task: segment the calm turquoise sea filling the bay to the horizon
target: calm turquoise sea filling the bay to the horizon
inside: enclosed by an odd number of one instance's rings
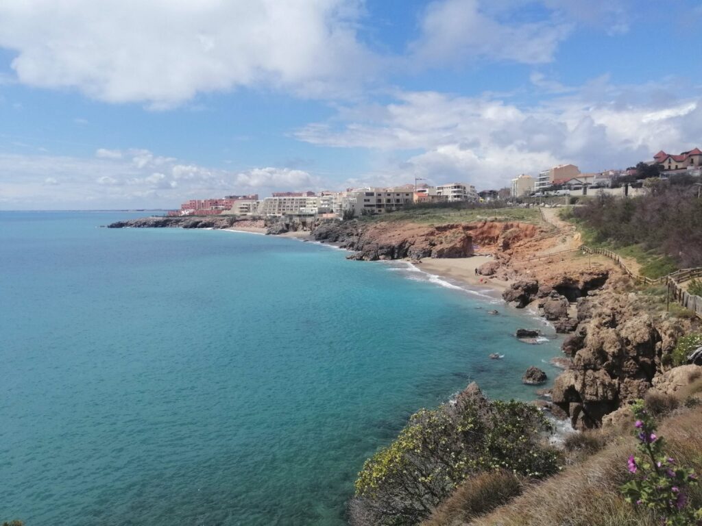
[[[342,525],[409,414],[555,373],[537,321],[402,264],[124,217],[0,213],[0,521]]]

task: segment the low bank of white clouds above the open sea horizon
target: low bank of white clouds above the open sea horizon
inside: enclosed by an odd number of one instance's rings
[[[46,177],[47,172],[53,176]],[[59,182],[57,194],[51,187]],[[318,183],[302,170],[253,168],[232,173],[143,149],[91,158],[0,153],[0,205],[18,210],[177,208],[191,198],[313,189]]]

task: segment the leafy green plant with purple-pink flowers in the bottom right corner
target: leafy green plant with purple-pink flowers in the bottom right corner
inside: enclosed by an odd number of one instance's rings
[[[687,501],[690,487],[699,484],[694,471],[665,454],[665,442],[656,435],[656,422],[642,400],[633,405],[633,412],[639,443],[628,460],[635,478],[621,487],[626,501],[649,508],[665,526],[702,525],[702,508],[694,509]]]

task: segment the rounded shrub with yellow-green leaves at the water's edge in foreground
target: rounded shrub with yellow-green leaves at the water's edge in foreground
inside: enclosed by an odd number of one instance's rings
[[[506,470],[543,478],[559,469],[559,454],[541,444],[552,431],[538,408],[490,401],[479,389],[455,405],[414,414],[398,438],[367,460],[355,483],[351,523],[414,525],[470,476]]]

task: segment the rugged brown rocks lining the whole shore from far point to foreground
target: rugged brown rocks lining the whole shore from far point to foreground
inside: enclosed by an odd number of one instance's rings
[[[108,227],[254,227],[271,235],[304,229],[314,241],[345,248],[352,252],[349,259],[364,261],[420,262],[488,253],[492,259],[476,269],[476,274],[490,282],[510,281],[502,293],[505,302],[517,309],[536,310],[557,332],[566,335],[563,356],[554,358],[563,372],[552,389],[543,393],[550,400],[541,405],[570,419],[578,430],[607,424],[631,400],[641,398],[649,389],[663,389],[661,386],[667,385],[663,378],[670,370],[665,356],[694,324],[647,309],[640,296],[628,292],[628,278],[613,265],[563,264],[564,259],[554,264],[557,257],[529,264],[528,256],[555,238],[534,224],[481,221],[434,226],[351,220],[300,225],[213,216],[145,217]],[[534,384],[541,381],[533,371],[525,380]]]

